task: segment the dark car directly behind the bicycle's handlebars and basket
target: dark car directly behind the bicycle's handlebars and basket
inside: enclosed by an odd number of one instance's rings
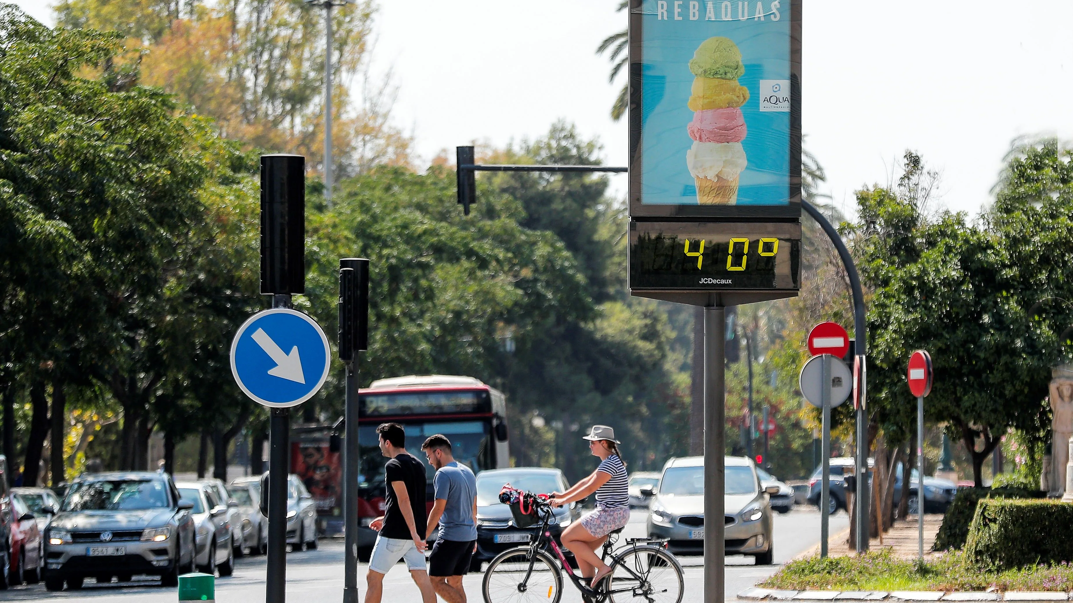
[[[548,494],[565,491],[570,487],[562,471],[546,467],[513,467],[511,469],[488,469],[476,476],[476,553],[471,568],[481,571],[481,563],[490,561],[500,553],[529,542],[540,526],[518,528],[511,515],[511,508],[499,502],[499,490],[504,485],[519,490]],[[554,524],[548,526],[552,536],[559,542],[563,528],[570,526],[582,513],[577,502],[555,510]],[[561,543],[560,543],[561,544]],[[573,561],[570,551],[563,549],[568,560]]]

